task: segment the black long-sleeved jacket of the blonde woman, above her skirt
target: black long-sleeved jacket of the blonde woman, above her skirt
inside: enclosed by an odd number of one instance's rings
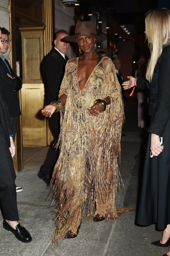
[[[152,82],[145,77],[136,81],[139,89],[150,89],[149,115],[151,124],[148,132],[162,136],[170,118],[170,45],[163,48],[159,57]]]

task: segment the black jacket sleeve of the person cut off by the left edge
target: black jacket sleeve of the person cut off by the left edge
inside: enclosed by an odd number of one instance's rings
[[[10,135],[13,134],[10,120],[10,112],[6,102],[5,74],[0,62],[0,123],[4,131],[8,146],[11,146]]]

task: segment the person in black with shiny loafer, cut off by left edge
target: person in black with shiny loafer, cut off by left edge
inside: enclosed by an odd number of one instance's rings
[[[0,48],[2,33],[0,28]],[[10,120],[10,112],[6,103],[6,86],[4,66],[0,62],[0,197],[4,214],[3,227],[14,233],[21,242],[31,242],[30,233],[19,224],[19,216],[16,201],[16,174],[12,157],[15,155],[13,142],[13,130]]]

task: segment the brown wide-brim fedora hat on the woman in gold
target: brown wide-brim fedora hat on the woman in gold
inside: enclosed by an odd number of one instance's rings
[[[96,42],[105,41],[107,37],[104,35],[97,35],[96,24],[94,22],[77,22],[75,25],[75,34],[64,37],[63,39],[68,42],[76,42],[76,37],[89,35],[96,37]]]

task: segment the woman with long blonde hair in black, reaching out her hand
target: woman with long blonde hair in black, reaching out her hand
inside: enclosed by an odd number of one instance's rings
[[[166,8],[150,11],[145,19],[146,38],[151,57],[146,78],[128,76],[124,89],[137,86],[150,89],[148,128],[143,183],[137,216],[140,225],[157,223],[163,231],[162,240],[152,242],[170,246],[170,11]],[[160,145],[160,137],[164,145]],[[150,152],[154,157],[150,157]],[[170,251],[165,254],[170,256]]]

